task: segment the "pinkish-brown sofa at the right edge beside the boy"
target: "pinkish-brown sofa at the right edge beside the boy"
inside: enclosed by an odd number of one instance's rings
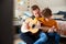
[[[66,21],[56,21],[58,24],[59,34],[62,37],[66,37]]]

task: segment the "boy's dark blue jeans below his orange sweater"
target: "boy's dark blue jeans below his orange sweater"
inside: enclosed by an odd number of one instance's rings
[[[48,44],[53,44],[53,40],[54,40],[54,44],[59,44],[59,34],[57,33],[47,33],[47,36],[48,36]]]

